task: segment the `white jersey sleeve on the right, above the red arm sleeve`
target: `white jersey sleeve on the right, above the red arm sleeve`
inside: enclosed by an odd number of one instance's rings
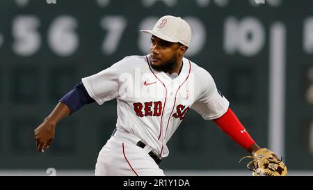
[[[211,74],[204,71],[204,85],[191,109],[197,111],[205,120],[214,120],[223,116],[230,102],[218,91]]]

